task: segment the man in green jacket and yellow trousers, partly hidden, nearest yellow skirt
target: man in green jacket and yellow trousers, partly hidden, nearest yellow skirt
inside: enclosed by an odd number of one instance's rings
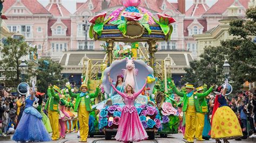
[[[204,87],[205,87],[205,85],[204,85]],[[206,87],[205,88],[204,87],[198,87],[197,92],[202,93],[204,90],[206,91]],[[208,106],[207,106],[207,102],[205,100],[205,97],[200,97],[199,98],[199,107],[200,107],[200,111],[198,111],[196,113],[196,115],[197,115],[197,118],[196,118],[196,126],[197,126],[196,127],[196,138],[199,141],[204,141],[202,135],[203,135],[204,123],[205,123],[205,113],[208,112]]]

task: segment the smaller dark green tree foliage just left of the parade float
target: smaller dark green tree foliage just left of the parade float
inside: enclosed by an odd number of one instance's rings
[[[46,62],[49,62],[49,65]],[[58,62],[42,58],[38,60],[38,63],[40,65],[36,72],[38,91],[46,93],[50,83],[61,88],[65,82],[68,82],[68,79],[62,77],[60,72],[63,67]]]

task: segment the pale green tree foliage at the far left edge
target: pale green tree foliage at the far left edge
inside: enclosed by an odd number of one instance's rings
[[[2,60],[0,61],[0,66],[4,69],[2,74],[6,77],[8,82],[19,83],[21,81],[21,79],[19,79],[21,74],[19,69],[21,58],[28,56],[31,52],[36,50],[36,48],[28,45],[23,36],[3,39],[3,49],[1,51]],[[32,64],[28,64],[28,69],[32,69],[32,66]],[[29,79],[28,75],[26,79]]]

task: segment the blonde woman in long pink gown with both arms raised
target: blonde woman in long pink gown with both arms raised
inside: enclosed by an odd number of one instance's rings
[[[114,87],[113,84],[111,86],[117,93],[123,97],[125,106],[122,109],[122,115],[120,118],[120,123],[117,130],[116,140],[124,141],[124,142],[132,142],[132,141],[140,141],[147,139],[147,133],[139,120],[139,115],[137,113],[137,109],[134,106],[134,101],[137,96],[144,90],[146,87],[146,83],[143,85],[142,89],[138,92],[134,93],[131,85],[126,85],[125,91],[126,93],[122,93]]]

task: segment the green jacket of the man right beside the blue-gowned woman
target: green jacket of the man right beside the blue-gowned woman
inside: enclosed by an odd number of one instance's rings
[[[58,112],[58,109],[59,109],[59,95],[55,94],[55,92],[53,91],[53,88],[48,88],[47,95],[49,96],[49,98],[48,98],[48,100],[45,104],[45,109]],[[50,99],[51,99],[50,109],[48,109]]]

